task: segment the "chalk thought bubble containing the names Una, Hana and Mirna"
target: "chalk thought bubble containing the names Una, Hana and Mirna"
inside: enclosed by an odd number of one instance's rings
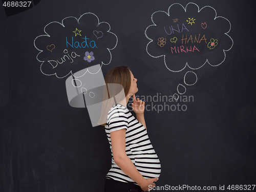
[[[167,12],[154,12],[152,22],[145,30],[150,40],[146,51],[154,58],[163,57],[166,68],[172,72],[186,67],[196,70],[206,63],[219,66],[226,58],[225,52],[233,46],[228,35],[229,20],[217,16],[210,6],[199,9],[194,3],[186,7],[176,3]]]

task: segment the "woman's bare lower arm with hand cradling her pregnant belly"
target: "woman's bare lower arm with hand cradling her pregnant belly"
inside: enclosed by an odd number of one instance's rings
[[[126,129],[110,133],[114,161],[127,176],[134,180],[142,190],[146,191],[148,190],[148,185],[155,186],[153,182],[157,181],[158,178],[145,179],[138,172],[131,159],[125,153],[125,133]]]

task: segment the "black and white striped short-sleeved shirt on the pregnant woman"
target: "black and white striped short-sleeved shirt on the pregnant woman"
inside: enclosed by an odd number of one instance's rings
[[[111,145],[110,132],[126,129],[125,152],[132,160],[139,173],[145,178],[155,178],[160,176],[161,165],[157,154],[148,138],[145,127],[132,115],[123,105],[115,104],[108,113],[107,124],[105,125],[106,136],[108,137],[112,156],[112,167],[106,178],[112,178],[122,182],[133,182],[117,166],[114,161]]]

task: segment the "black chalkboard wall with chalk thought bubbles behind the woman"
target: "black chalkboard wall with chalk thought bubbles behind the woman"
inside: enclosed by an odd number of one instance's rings
[[[79,82],[83,70],[96,65],[101,80],[121,65],[138,79],[136,96],[145,101],[147,132],[162,167],[158,191],[166,185],[252,189],[253,3],[41,0],[20,11],[2,6],[1,191],[103,191],[111,167],[104,127],[92,126],[84,102],[70,105],[89,94]],[[66,89],[71,74],[69,83],[79,88],[74,95]]]

